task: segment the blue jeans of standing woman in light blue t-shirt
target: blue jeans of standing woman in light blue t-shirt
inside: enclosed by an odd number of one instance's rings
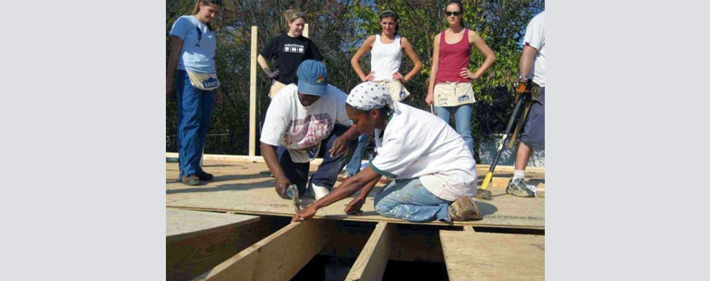
[[[195,175],[202,171],[200,159],[207,138],[209,120],[214,109],[214,91],[203,91],[192,87],[185,70],[178,70],[175,79],[178,97],[178,162],[180,176]]]

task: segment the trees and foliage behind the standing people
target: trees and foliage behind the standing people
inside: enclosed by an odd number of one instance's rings
[[[408,103],[429,111],[424,98],[431,70],[432,38],[447,28],[444,5],[448,1],[391,0],[391,1],[284,1],[284,0],[226,0],[222,12],[213,25],[217,28],[217,73],[222,82],[224,101],[214,109],[212,127],[207,137],[205,153],[247,155],[249,153],[249,55],[251,26],[258,26],[258,50],[271,38],[285,31],[283,11],[300,9],[307,14],[311,40],[324,55],[329,82],[349,92],[360,82],[350,66],[355,54],[368,35],[380,33],[378,11],[393,9],[400,16],[400,35],[408,38],[422,61],[422,71],[406,84],[412,94]],[[476,104],[471,121],[476,162],[482,143],[503,133],[512,111],[513,94],[510,87],[517,80],[521,41],[528,21],[545,9],[544,0],[463,1],[466,27],[481,35],[496,54],[496,63],[474,82]],[[169,52],[168,33],[175,20],[187,15],[194,0],[166,1],[166,64]],[[361,59],[361,66],[369,69],[369,54]],[[481,65],[483,55],[474,48],[471,69]],[[273,70],[273,63],[269,64]],[[404,56],[400,72],[406,74],[413,63]],[[271,82],[258,69],[257,116],[268,107]],[[176,103],[166,103],[166,151],[177,151]],[[260,117],[258,117],[260,119]],[[453,125],[453,123],[452,123]],[[261,126],[259,126],[261,128]],[[257,130],[258,133],[258,130]],[[257,136],[258,140],[258,136]],[[258,145],[257,145],[258,148]]]

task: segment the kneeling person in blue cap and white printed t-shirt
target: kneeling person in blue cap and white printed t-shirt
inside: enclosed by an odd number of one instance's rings
[[[328,84],[323,62],[305,60],[296,75],[297,82],[276,92],[268,106],[261,155],[275,177],[280,197],[292,197],[288,187],[296,184],[299,196],[312,190],[320,199],[350,161],[360,133],[345,113],[345,93]],[[310,160],[323,147],[323,162],[308,187]]]

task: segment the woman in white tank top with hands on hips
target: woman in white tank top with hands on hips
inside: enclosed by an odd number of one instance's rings
[[[403,84],[412,79],[422,69],[417,54],[414,53],[412,44],[405,37],[397,35],[399,29],[398,16],[395,11],[386,9],[380,12],[380,26],[382,33],[370,35],[360,47],[360,50],[353,55],[350,65],[363,82],[374,81],[383,84],[392,95],[395,101],[402,101],[409,96],[409,92]],[[371,51],[371,70],[368,75],[360,67],[360,57]],[[402,54],[405,53],[412,62],[414,68],[403,76],[399,72],[402,64]]]

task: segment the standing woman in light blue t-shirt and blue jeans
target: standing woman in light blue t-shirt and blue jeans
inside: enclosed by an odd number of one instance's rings
[[[214,102],[222,101],[219,79],[214,67],[217,48],[214,28],[210,25],[222,9],[222,0],[197,0],[190,16],[181,16],[170,30],[165,92],[170,96],[173,85],[178,98],[178,153],[180,176],[186,185],[212,180],[200,167],[209,119]],[[175,84],[173,75],[178,70]]]

